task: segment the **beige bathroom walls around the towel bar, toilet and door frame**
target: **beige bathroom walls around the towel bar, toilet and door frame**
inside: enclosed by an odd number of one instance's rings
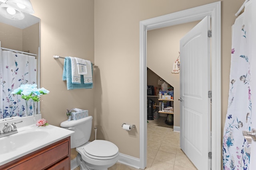
[[[65,109],[88,109],[99,138],[139,158],[139,21],[216,2],[216,0],[31,0],[41,18],[41,113],[50,124],[66,119]],[[222,1],[222,117],[228,100],[231,25],[243,0]],[[62,60],[74,56],[96,63],[93,90],[66,90]],[[95,110],[95,113],[94,113]],[[135,124],[124,131],[122,123]],[[222,119],[222,128],[224,119]]]

